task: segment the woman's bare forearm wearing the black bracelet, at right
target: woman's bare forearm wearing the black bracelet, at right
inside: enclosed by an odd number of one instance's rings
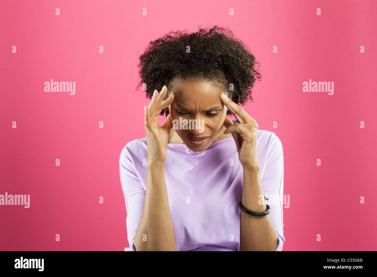
[[[244,167],[242,205],[251,211],[265,211],[267,207],[264,197],[263,205],[259,205],[259,195],[263,195],[259,167]],[[277,233],[270,214],[253,216],[241,211],[240,251],[275,251],[277,243]]]

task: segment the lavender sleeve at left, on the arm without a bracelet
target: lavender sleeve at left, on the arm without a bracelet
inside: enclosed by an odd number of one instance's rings
[[[144,208],[145,190],[135,172],[132,163],[130,144],[127,144],[121,151],[119,158],[120,181],[124,193],[127,211],[127,240],[131,251],[135,251],[133,245],[136,231]]]

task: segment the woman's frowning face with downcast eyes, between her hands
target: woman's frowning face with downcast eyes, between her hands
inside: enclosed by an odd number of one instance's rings
[[[174,101],[169,105],[173,128],[191,151],[204,151],[219,135],[227,116],[220,98],[223,90],[200,78],[173,84]]]

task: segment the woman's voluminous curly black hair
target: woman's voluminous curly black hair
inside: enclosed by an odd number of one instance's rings
[[[182,80],[200,77],[216,81],[237,104],[245,104],[248,98],[253,102],[251,89],[255,77],[258,81],[262,77],[254,67],[259,64],[254,55],[227,28],[216,25],[208,31],[205,28],[198,29],[198,32],[192,34],[170,31],[150,41],[139,57],[141,81],[137,89],[143,87],[146,98],[151,99],[154,90],[160,91],[164,85],[169,93],[175,77]],[[169,107],[163,109],[160,115],[164,113],[166,116],[169,114]],[[231,114],[228,109],[227,115]]]

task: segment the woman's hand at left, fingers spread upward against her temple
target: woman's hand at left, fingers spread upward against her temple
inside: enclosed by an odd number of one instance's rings
[[[174,95],[165,99],[167,87],[164,86],[161,92],[157,90],[153,93],[148,107],[144,106],[144,125],[147,135],[147,162],[164,163],[166,160],[166,148],[169,142],[170,129],[172,128],[172,119],[169,115],[166,117],[164,125],[158,125],[158,116],[162,109],[168,107],[174,101]]]

